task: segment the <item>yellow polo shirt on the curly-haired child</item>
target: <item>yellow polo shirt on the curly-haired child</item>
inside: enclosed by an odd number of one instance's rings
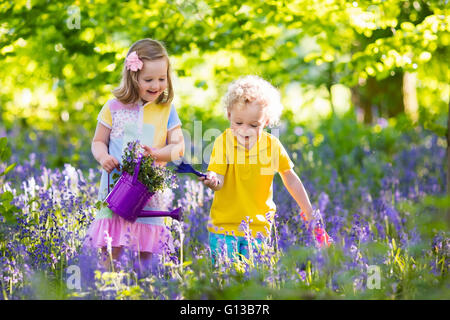
[[[244,236],[241,222],[247,217],[251,235],[268,236],[276,211],[273,202],[273,177],[292,169],[294,164],[281,142],[263,132],[246,149],[237,142],[231,129],[214,141],[208,171],[225,177],[222,189],[214,193],[208,230],[213,233]]]

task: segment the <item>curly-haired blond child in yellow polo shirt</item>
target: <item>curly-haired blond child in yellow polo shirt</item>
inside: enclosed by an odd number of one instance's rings
[[[247,76],[229,86],[224,100],[230,128],[214,142],[206,179],[199,178],[215,191],[208,227],[213,261],[222,251],[230,258],[235,253],[248,258],[246,232],[255,238],[258,233],[269,236],[276,210],[272,200],[276,172],[303,210],[302,218],[318,244],[328,245],[331,239],[320,225],[320,213],[312,209],[289,155],[275,136],[263,130],[280,118],[278,91],[257,76]],[[243,221],[250,222],[247,230]]]

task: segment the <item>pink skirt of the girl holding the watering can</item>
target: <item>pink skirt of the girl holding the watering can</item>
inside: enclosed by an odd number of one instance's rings
[[[126,247],[139,252],[173,252],[171,232],[161,225],[129,222],[109,209],[105,214],[98,215],[87,231],[85,246],[102,248]],[[101,211],[104,211],[101,210]]]

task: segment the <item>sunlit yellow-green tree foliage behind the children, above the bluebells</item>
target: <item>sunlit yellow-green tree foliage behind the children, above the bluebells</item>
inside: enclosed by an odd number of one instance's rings
[[[213,92],[206,107],[182,96],[187,122],[225,125],[214,110],[226,84],[245,73],[281,89],[324,87],[330,102],[332,87],[343,84],[370,118],[396,116],[404,75],[413,73],[421,119],[443,135],[449,16],[446,0],[7,1],[0,5],[0,119],[6,130],[56,136],[55,164],[76,161],[64,150],[86,145],[129,46],[150,37],[167,46],[181,89],[190,81]]]

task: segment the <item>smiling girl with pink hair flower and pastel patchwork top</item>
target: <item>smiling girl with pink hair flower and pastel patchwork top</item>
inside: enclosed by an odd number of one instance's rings
[[[139,140],[145,154],[152,155],[161,165],[183,155],[181,122],[171,104],[174,93],[170,73],[169,57],[160,42],[143,39],[129,49],[122,81],[113,92],[115,98],[106,102],[98,115],[91,146],[103,168],[99,200],[106,198],[108,180],[112,183],[112,174],[120,170],[122,150],[129,141]],[[155,194],[145,209],[168,210],[164,197]],[[152,254],[160,253],[164,247],[172,248],[164,218],[138,218],[130,223],[106,207],[97,212],[87,240],[91,246],[102,249],[105,266],[109,265],[109,253],[117,261],[123,247],[139,252],[144,265],[150,262]]]

